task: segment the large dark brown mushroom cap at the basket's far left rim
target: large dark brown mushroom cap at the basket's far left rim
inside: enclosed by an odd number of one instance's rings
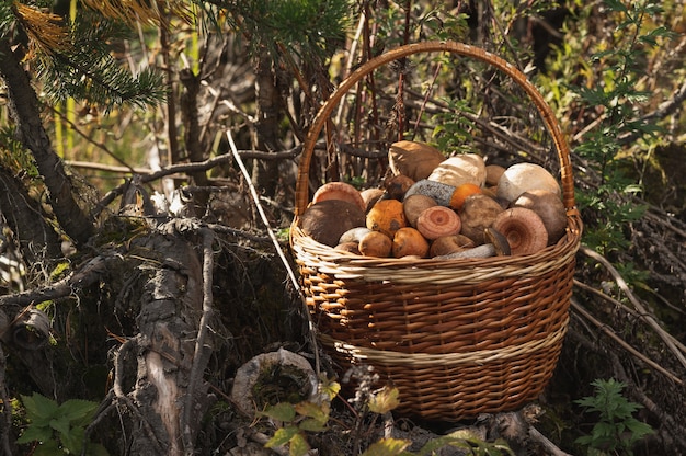
[[[334,247],[345,231],[365,226],[365,214],[357,205],[347,201],[324,200],[305,209],[299,225],[307,236]]]

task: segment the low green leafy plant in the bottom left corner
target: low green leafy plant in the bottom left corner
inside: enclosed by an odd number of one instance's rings
[[[38,392],[33,396],[22,395],[21,398],[28,426],[16,443],[35,442],[34,456],[82,453],[85,426],[93,420],[96,402],[69,399],[58,404]],[[100,444],[89,444],[87,454],[101,456],[107,455],[107,451]]]

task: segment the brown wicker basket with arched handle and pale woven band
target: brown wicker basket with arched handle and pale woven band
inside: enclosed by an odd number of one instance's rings
[[[416,53],[485,62],[519,86],[538,110],[559,159],[568,230],[523,256],[481,260],[377,259],[346,254],[298,226],[322,128],[342,98],[375,69]],[[370,364],[399,388],[399,412],[458,421],[537,398],[556,367],[567,324],[582,223],[572,167],[552,111],[525,76],[483,49],[426,42],[386,52],[351,73],[321,107],[299,163],[290,243],[320,343],[340,365]]]

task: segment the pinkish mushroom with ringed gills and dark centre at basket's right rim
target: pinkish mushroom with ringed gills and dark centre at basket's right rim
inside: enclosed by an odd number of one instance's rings
[[[492,227],[507,239],[513,255],[536,253],[548,246],[544,220],[526,207],[504,210],[495,217]]]

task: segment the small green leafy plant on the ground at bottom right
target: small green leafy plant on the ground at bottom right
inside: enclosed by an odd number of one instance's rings
[[[576,443],[587,445],[588,454],[631,455],[633,444],[653,432],[649,424],[633,418],[633,412],[641,406],[630,402],[621,395],[626,387],[621,381],[613,378],[596,379],[592,385],[595,387],[595,396],[587,396],[575,402],[586,412],[598,413],[599,418],[591,435],[576,438]]]

